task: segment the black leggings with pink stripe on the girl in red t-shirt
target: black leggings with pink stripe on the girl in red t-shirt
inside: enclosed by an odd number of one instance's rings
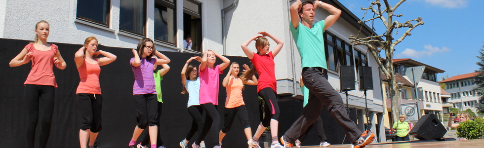
[[[271,125],[271,119],[279,121],[279,106],[277,104],[276,92],[272,88],[266,87],[259,91],[259,96],[264,99],[264,119],[262,126]]]

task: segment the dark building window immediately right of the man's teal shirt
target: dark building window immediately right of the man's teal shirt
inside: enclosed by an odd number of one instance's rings
[[[328,69],[338,72],[340,65],[353,65],[353,47],[343,39],[335,37],[331,33],[324,33],[326,37]]]

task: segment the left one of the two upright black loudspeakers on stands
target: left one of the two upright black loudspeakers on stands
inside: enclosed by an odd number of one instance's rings
[[[355,90],[355,67],[339,66],[339,86],[343,91]]]

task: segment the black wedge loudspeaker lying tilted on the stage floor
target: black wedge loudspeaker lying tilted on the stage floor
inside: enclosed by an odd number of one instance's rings
[[[447,130],[437,116],[433,113],[422,116],[410,131],[410,135],[419,139],[440,139]]]

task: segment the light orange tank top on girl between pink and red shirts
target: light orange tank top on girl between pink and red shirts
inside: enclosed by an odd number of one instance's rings
[[[225,100],[225,108],[237,108],[245,105],[242,98],[242,79],[230,76],[229,83],[225,87],[227,90],[227,99]]]

